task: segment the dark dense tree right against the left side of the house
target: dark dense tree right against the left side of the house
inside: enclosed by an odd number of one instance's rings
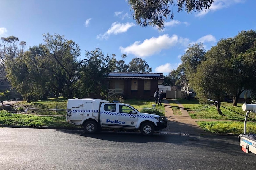
[[[76,97],[87,98],[90,94],[106,97],[109,85],[106,75],[113,71],[115,61],[109,54],[105,56],[99,48],[86,51],[85,56],[88,62],[81,68],[83,72],[76,83]]]

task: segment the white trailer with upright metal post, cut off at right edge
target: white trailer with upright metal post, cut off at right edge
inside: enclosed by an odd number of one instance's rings
[[[242,109],[247,112],[244,119],[244,134],[239,135],[240,146],[245,153],[252,152],[256,154],[256,134],[246,133],[248,115],[249,113],[256,113],[256,104],[243,104]]]

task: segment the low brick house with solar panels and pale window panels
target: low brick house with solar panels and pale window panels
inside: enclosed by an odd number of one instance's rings
[[[153,99],[158,85],[163,83],[163,73],[109,73],[108,96],[121,94],[124,98]]]

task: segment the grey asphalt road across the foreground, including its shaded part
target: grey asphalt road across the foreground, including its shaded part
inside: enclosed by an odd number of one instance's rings
[[[0,128],[0,169],[255,169],[238,137]]]

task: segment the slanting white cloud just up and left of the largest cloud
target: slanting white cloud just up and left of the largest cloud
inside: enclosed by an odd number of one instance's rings
[[[97,35],[97,39],[108,39],[108,37],[111,34],[117,35],[120,33],[124,33],[126,32],[129,28],[135,26],[134,23],[132,22],[127,22],[127,23],[118,23],[118,22],[114,22],[111,25],[111,28],[109,28],[103,35],[99,34]]]

